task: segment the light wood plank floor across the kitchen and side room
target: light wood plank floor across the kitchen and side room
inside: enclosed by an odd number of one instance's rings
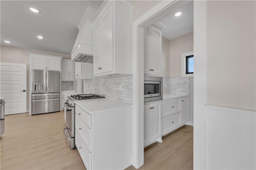
[[[64,112],[5,116],[1,138],[1,170],[84,170],[77,150],[63,134]],[[192,169],[193,127],[184,126],[145,148],[140,169]],[[127,169],[135,169],[133,166]]]

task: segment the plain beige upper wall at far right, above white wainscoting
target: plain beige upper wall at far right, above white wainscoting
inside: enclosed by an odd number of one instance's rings
[[[209,1],[207,16],[207,103],[256,111],[255,1]]]

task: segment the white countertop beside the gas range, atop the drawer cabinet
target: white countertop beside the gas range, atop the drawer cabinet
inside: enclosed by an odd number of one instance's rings
[[[101,111],[108,111],[120,107],[129,107],[132,106],[128,103],[123,103],[120,101],[115,101],[112,99],[90,99],[90,100],[80,100],[75,101],[75,104],[90,113],[91,115],[94,113],[99,113]]]

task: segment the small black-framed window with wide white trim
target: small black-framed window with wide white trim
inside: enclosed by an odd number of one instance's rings
[[[194,77],[194,52],[181,54],[181,77]]]

